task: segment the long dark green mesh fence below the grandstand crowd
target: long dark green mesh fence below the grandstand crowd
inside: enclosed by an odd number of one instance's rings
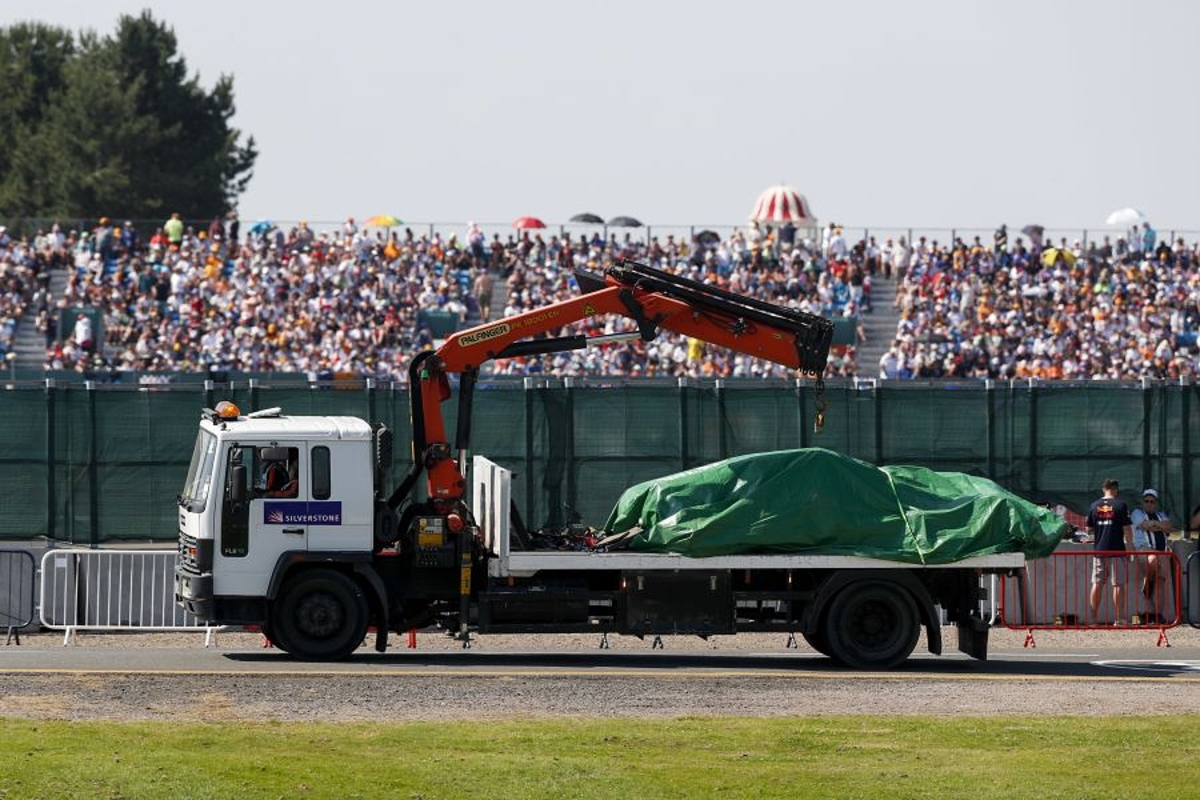
[[[640,481],[730,456],[822,446],[877,464],[985,475],[1022,497],[1076,512],[1105,477],[1127,499],[1153,486],[1182,521],[1193,485],[1200,402],[1190,384],[827,381],[814,431],[811,381],[485,380],[473,452],[511,469],[529,527],[575,510],[600,524]],[[199,410],[353,415],[396,433],[396,482],[408,463],[408,395],[372,381],[168,385],[10,383],[0,392],[0,540],[77,545],[169,541]],[[455,403],[445,404],[455,431]]]

